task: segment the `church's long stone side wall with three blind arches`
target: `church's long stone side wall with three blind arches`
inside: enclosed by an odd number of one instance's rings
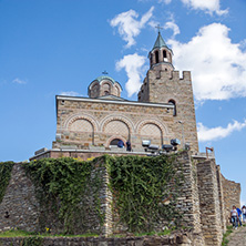
[[[170,144],[182,139],[182,129],[173,116],[173,105],[146,104],[99,99],[57,96],[57,142],[53,147],[75,145],[109,147],[114,139],[126,142],[134,151],[144,151],[143,140]]]

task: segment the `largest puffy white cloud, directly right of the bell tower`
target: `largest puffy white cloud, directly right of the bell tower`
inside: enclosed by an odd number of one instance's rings
[[[167,41],[174,66],[192,70],[196,101],[246,96],[246,51],[228,38],[229,29],[212,23],[199,29],[187,43]]]

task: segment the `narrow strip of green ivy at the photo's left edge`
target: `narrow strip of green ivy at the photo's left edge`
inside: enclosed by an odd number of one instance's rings
[[[11,171],[13,167],[13,162],[0,162],[0,203],[3,199],[6,188],[9,184],[11,177]]]

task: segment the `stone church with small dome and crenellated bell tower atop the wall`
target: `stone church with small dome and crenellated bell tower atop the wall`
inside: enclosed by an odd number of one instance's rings
[[[52,157],[55,151],[117,151],[120,140],[130,141],[132,151],[144,152],[142,141],[170,144],[172,139],[198,152],[191,72],[173,66],[173,51],[161,33],[148,53],[150,69],[137,101],[121,98],[121,84],[109,75],[93,80],[89,98],[57,95],[57,136],[52,150],[35,152]],[[121,150],[124,151],[124,150]]]

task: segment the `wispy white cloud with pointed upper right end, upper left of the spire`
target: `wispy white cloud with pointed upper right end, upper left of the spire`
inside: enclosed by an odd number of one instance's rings
[[[154,11],[154,7],[152,7],[141,20],[136,20],[139,18],[139,13],[134,10],[129,10],[126,12],[122,12],[114,17],[110,24],[111,27],[117,27],[117,31],[122,39],[126,41],[126,48],[132,47],[135,44],[135,37],[137,37],[141,32],[141,29],[145,27],[147,21],[151,19]]]

